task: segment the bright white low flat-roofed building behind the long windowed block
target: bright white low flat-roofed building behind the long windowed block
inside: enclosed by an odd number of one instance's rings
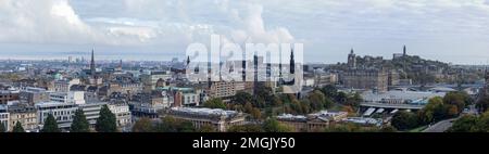
[[[60,103],[85,104],[84,91],[53,92],[49,93],[49,100]]]

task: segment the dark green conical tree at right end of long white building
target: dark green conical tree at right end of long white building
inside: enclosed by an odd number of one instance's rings
[[[117,121],[115,115],[109,110],[108,105],[103,105],[100,110],[99,118],[96,123],[96,130],[98,132],[116,132]]]

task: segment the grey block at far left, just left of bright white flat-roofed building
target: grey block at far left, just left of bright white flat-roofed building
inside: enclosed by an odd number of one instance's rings
[[[46,89],[42,88],[27,87],[21,90],[18,99],[22,103],[33,105],[39,102],[49,101],[49,93],[46,91]]]

